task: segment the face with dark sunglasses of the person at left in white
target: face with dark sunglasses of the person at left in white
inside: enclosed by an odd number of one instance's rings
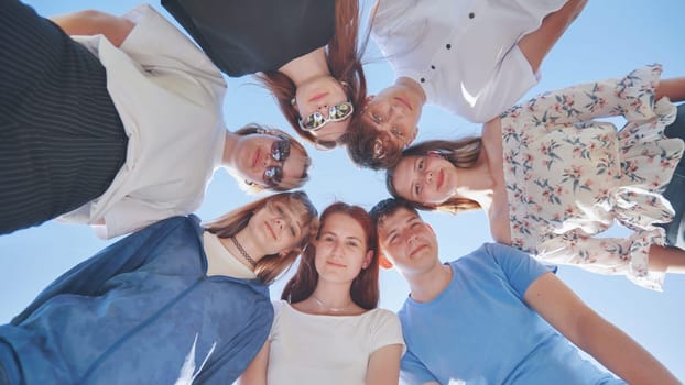
[[[287,139],[273,134],[240,136],[235,173],[263,188],[290,189],[301,184],[306,154]]]

